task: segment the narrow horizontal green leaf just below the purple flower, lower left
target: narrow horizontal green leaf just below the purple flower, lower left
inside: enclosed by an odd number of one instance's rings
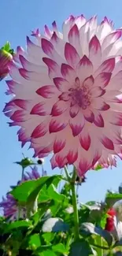
[[[32,228],[31,221],[13,221],[6,226],[5,232],[11,232],[15,228]]]

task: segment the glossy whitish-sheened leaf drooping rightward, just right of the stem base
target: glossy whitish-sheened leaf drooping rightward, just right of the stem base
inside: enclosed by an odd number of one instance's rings
[[[109,232],[107,232],[102,228],[95,227],[94,224],[90,222],[86,222],[86,223],[84,222],[81,225],[81,229],[82,228],[86,232],[90,232],[91,234],[102,236],[109,246],[111,246],[111,244],[113,243],[113,236],[111,236]]]

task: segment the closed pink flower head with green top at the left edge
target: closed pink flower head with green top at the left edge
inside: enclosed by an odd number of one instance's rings
[[[9,64],[13,60],[13,50],[10,49],[10,44],[6,43],[0,49],[0,81],[9,74]]]

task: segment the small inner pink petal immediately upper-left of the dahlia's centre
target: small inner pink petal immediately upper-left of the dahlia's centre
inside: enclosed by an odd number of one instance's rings
[[[54,84],[57,87],[59,91],[68,91],[71,87],[71,84],[65,80],[65,78],[62,77],[55,77],[54,78]]]

